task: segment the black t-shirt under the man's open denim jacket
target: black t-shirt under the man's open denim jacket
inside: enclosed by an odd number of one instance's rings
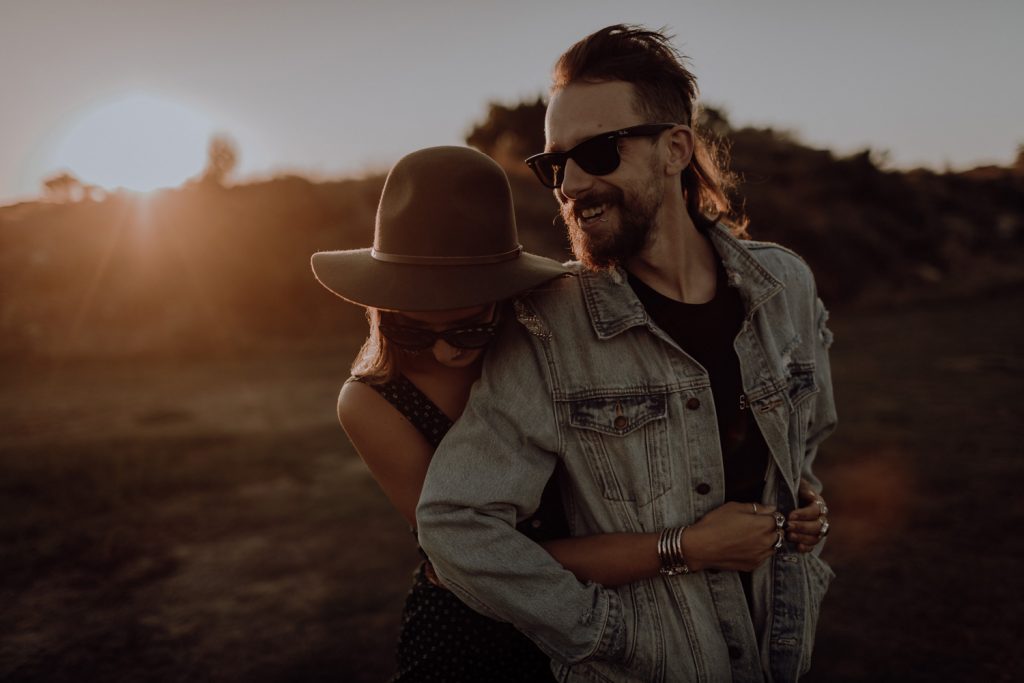
[[[739,359],[733,348],[744,315],[739,292],[729,287],[721,263],[715,298],[707,303],[670,299],[633,273],[630,286],[651,319],[708,371],[722,443],[725,500],[760,502],[768,467],[768,444],[751,410],[740,403],[743,388]]]

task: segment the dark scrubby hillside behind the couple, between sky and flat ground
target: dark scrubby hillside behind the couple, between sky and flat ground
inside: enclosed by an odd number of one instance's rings
[[[839,158],[715,123],[752,236],[807,258],[830,305],[1024,282],[1020,169],[899,172],[866,151]],[[515,144],[500,141],[484,151],[508,162]],[[567,258],[553,198],[523,167],[509,170],[523,244]],[[316,286],[309,255],[369,246],[382,183],[286,176],[0,208],[0,354],[238,352],[330,339],[361,311]]]

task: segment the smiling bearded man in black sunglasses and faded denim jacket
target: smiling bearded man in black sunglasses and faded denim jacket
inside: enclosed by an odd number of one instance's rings
[[[516,303],[417,512],[445,586],[559,680],[795,680],[831,578],[811,470],[836,423],[826,313],[799,257],[725,222],[695,94],[659,33],[561,56],[527,163],[579,276]],[[581,583],[516,532],[556,466],[572,535],[646,543],[608,555],[645,578]]]

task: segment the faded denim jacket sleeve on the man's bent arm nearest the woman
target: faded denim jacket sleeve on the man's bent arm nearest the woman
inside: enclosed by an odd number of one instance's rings
[[[546,365],[509,321],[431,461],[417,509],[420,544],[446,588],[511,622],[556,660],[617,660],[626,649],[617,595],[581,583],[515,528],[539,506],[559,451]]]

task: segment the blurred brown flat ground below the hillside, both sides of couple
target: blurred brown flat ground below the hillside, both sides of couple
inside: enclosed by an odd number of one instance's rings
[[[805,680],[1024,677],[1022,304],[834,315]],[[416,553],[335,421],[340,346],[0,369],[0,679],[386,679]]]

